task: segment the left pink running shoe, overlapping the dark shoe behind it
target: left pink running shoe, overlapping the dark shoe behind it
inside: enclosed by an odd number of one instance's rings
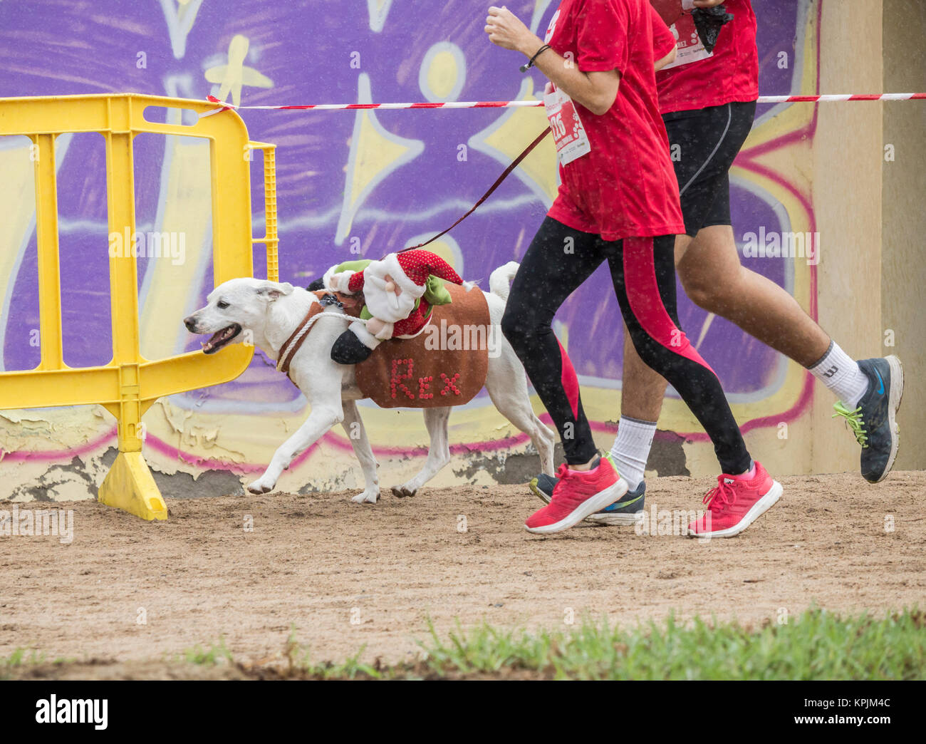
[[[627,493],[627,481],[619,476],[607,458],[600,458],[597,466],[589,471],[570,470],[563,463],[557,478],[559,482],[553,489],[550,503],[534,511],[524,523],[528,532],[536,535],[562,532]]]

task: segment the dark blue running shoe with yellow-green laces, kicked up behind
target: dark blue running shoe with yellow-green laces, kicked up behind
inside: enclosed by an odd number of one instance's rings
[[[861,472],[869,483],[879,483],[894,467],[900,432],[897,409],[904,394],[904,368],[894,355],[861,359],[858,367],[869,378],[869,389],[855,410],[842,400],[833,405],[832,418],[842,416],[862,446]]]

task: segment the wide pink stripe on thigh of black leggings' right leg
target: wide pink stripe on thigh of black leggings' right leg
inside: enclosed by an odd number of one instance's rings
[[[624,238],[624,287],[633,315],[647,335],[669,351],[714,372],[701,359],[688,336],[672,322],[666,306],[662,304],[656,282],[653,238]]]

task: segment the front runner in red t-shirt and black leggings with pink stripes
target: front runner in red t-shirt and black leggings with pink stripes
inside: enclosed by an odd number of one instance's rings
[[[502,319],[566,451],[550,503],[527,521],[531,532],[567,529],[627,493],[597,456],[578,378],[552,330],[560,305],[605,260],[640,357],[714,442],[722,498],[735,503],[730,529],[745,529],[782,492],[750,458],[717,375],[678,328],[673,251],[683,224],[657,106],[654,50],[664,42],[654,19],[647,0],[563,0],[545,44],[506,8],[491,7],[486,19],[493,44],[521,52],[550,80],[544,103],[562,168]]]

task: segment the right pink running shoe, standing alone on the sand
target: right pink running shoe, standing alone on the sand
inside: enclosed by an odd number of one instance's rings
[[[773,481],[758,462],[753,477],[720,475],[717,484],[704,498],[707,513],[688,525],[689,536],[739,535],[782,496],[782,484]]]

